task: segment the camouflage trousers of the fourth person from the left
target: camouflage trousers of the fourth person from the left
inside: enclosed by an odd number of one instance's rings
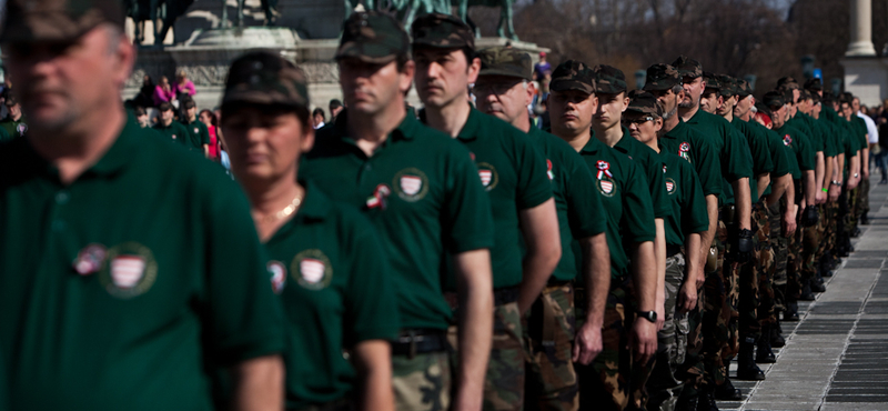
[[[493,309],[493,345],[484,379],[483,410],[522,410],[524,394],[524,344],[518,303]]]

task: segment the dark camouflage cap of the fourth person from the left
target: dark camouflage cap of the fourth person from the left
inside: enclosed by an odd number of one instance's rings
[[[442,49],[475,49],[475,33],[463,20],[444,13],[420,17],[410,28],[413,46]]]

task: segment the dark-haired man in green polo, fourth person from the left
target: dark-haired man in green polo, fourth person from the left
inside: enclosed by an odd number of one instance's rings
[[[546,159],[529,136],[468,103],[468,86],[481,69],[468,24],[451,14],[428,13],[413,22],[411,34],[416,92],[425,104],[420,118],[472,152],[491,199],[495,307],[484,407],[521,409],[525,375],[521,315],[539,297],[562,250]]]

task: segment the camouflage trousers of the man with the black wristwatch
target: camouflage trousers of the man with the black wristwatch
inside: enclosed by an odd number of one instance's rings
[[[633,375],[632,350],[628,348],[628,332],[635,321],[632,303],[630,280],[612,279],[610,292],[604,309],[602,328],[602,352],[588,365],[575,364],[579,382],[581,410],[617,410],[629,405]],[[582,298],[577,294],[577,307]],[[577,327],[584,317],[577,310]]]

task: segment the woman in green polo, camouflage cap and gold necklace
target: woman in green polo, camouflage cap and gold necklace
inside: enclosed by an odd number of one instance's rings
[[[397,337],[384,251],[357,210],[299,180],[314,143],[301,70],[255,52],[232,63],[222,129],[287,318],[286,407],[392,410]]]

